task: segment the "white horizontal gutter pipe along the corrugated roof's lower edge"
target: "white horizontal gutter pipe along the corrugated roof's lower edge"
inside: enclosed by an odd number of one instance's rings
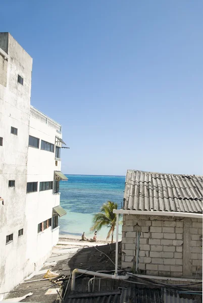
[[[133,211],[133,210],[113,210],[114,214],[122,215],[149,215],[149,216],[171,216],[171,217],[189,217],[202,219],[202,214],[181,213],[181,212],[157,212],[157,211]]]

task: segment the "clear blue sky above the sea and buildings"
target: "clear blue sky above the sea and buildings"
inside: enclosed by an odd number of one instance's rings
[[[31,104],[63,125],[62,170],[202,174],[203,2],[1,4],[33,58]]]

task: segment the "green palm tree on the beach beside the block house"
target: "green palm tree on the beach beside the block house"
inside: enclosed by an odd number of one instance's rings
[[[112,243],[114,238],[114,229],[116,227],[116,214],[113,213],[113,210],[117,210],[117,207],[117,203],[112,201],[104,203],[100,212],[93,216],[93,226],[90,228],[90,231],[94,231],[100,230],[103,226],[109,227],[110,230],[107,234],[107,240],[112,234]]]

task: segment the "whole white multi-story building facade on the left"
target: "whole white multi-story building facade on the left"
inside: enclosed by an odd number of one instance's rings
[[[32,58],[0,33],[0,293],[40,268],[58,242],[58,216],[66,214],[62,127],[30,106],[31,72]]]

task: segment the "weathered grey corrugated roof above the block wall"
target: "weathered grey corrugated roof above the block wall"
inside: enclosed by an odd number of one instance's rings
[[[128,170],[124,209],[202,213],[202,176]]]

